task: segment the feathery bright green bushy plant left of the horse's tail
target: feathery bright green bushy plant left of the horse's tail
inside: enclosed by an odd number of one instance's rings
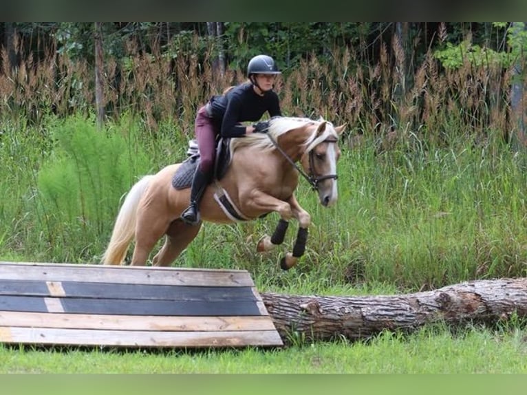
[[[55,129],[53,137],[58,146],[37,180],[38,210],[51,258],[74,260],[69,253],[64,256],[68,246],[94,259],[100,253],[98,240],[109,233],[120,196],[138,174],[146,172],[147,155],[118,131],[99,131],[78,118]]]

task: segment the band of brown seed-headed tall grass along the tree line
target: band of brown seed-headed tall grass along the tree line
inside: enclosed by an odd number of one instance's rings
[[[169,45],[149,45],[140,51],[127,44],[127,55],[105,58],[104,97],[107,116],[138,115],[145,131],[156,134],[165,122],[177,122],[192,133],[196,107],[209,96],[244,81],[244,70],[214,68],[214,43],[199,38]],[[0,70],[0,114],[18,122],[39,124],[48,114],[89,116],[94,103],[92,65],[56,54],[53,47],[38,62],[26,57],[15,43],[19,67]],[[8,62],[0,50],[3,65]],[[362,65],[352,47],[336,47],[331,61],[305,54],[295,70],[285,71],[275,89],[284,114],[349,122],[352,130],[383,136],[409,127],[427,142],[444,142],[449,134],[485,138],[488,128],[508,137],[511,128],[508,101],[509,70],[495,63],[471,63],[467,56],[456,70],[443,70],[431,52],[424,55],[415,75],[408,78],[405,54],[397,40],[380,45],[378,63]],[[278,59],[279,63],[280,60]]]

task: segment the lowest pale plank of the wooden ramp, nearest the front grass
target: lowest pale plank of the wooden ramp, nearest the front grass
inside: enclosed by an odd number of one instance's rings
[[[239,347],[283,345],[276,330],[224,332],[150,332],[3,327],[3,343],[107,345],[112,347]]]

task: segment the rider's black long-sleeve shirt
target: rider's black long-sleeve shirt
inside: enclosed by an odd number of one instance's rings
[[[213,96],[211,106],[215,123],[221,125],[219,133],[222,137],[243,136],[246,127],[240,122],[260,120],[266,111],[271,117],[281,116],[276,92],[259,96],[250,83],[237,85],[222,96]]]

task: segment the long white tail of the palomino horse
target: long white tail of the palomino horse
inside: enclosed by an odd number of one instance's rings
[[[139,200],[150,183],[153,175],[145,175],[128,192],[117,215],[114,231],[111,233],[108,248],[101,259],[105,265],[120,265],[127,255],[134,234],[136,233],[136,211]]]

